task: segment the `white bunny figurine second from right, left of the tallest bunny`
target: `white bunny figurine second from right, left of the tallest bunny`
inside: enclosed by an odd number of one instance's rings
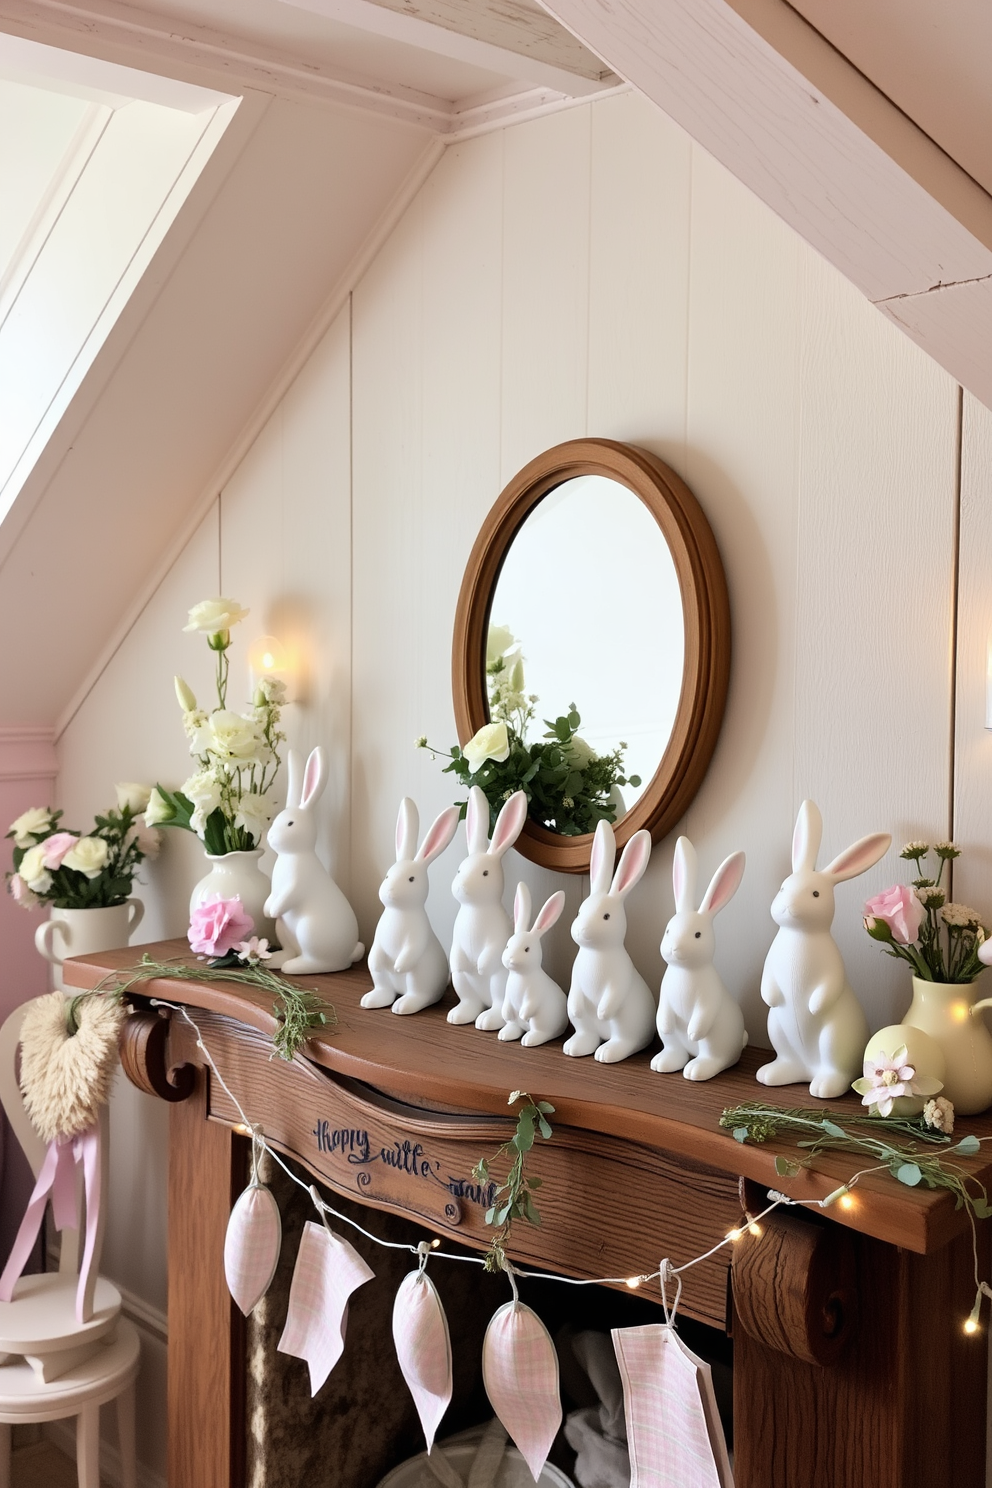
[[[662,1052],[653,1070],[681,1070],[687,1080],[711,1080],[741,1058],[748,1036],[744,1013],[712,964],[717,939],[714,915],[730,903],[744,878],[744,853],[733,853],[712,875],[696,909],[696,848],[689,838],[675,844],[675,914],[665,927],[657,1031]]]

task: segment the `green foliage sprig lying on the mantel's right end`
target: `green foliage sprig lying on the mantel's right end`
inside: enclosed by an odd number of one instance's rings
[[[873,1158],[879,1168],[888,1168],[894,1178],[910,1189],[921,1183],[928,1189],[946,1189],[955,1195],[955,1208],[965,1205],[976,1219],[992,1217],[985,1184],[959,1164],[947,1162],[950,1153],[974,1158],[982,1150],[982,1141],[992,1138],[961,1137],[950,1146],[950,1137],[927,1126],[921,1117],[848,1116],[806,1107],[779,1110],[760,1101],[729,1107],[721,1115],[720,1125],[729,1128],[736,1141],[761,1143],[779,1134],[796,1137],[802,1132],[802,1140],[797,1140],[796,1146],[806,1149],[806,1156],[796,1159],[779,1155],[775,1159],[775,1171],[782,1178],[793,1178],[805,1168],[811,1168],[821,1152],[849,1152]],[[913,1140],[886,1141],[864,1131],[849,1131],[849,1126],[883,1128],[904,1132]],[[919,1143],[944,1146],[947,1156],[921,1152]]]

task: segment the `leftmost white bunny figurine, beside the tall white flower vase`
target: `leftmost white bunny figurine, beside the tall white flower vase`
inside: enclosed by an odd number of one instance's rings
[[[314,805],[327,783],[324,751],[311,750],[299,787],[299,754],[289,753],[286,809],[269,827],[277,853],[265,914],[275,920],[281,949],[268,963],[289,976],[344,972],[364,955],[355,912],[317,857]]]

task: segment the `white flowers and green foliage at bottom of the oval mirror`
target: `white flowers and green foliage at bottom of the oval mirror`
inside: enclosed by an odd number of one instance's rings
[[[425,735],[416,747],[451,760],[445,774],[457,775],[466,790],[482,787],[489,802],[489,830],[516,790],[526,795],[531,820],[561,836],[582,836],[595,832],[598,821],[616,821],[617,808],[623,812],[620,786],[641,784],[640,775],[625,774],[626,744],[598,754],[579,734],[582,717],[574,702],[561,717],[544,719],[544,737],[528,743],[538,698],[525,690],[521,644],[506,625],[489,626],[486,684],[491,722],[464,748],[434,748]],[[455,804],[464,817],[467,801]]]

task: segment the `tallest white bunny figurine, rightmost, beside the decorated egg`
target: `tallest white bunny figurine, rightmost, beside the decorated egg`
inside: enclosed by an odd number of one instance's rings
[[[772,903],[781,927],[764,958],[761,997],[776,1058],[757,1071],[761,1085],[809,1080],[809,1094],[833,1101],[861,1070],[869,1024],[830,934],[834,884],[864,873],[892,838],[875,832],[817,872],[822,818],[812,801],[799,808],[793,872]]]

